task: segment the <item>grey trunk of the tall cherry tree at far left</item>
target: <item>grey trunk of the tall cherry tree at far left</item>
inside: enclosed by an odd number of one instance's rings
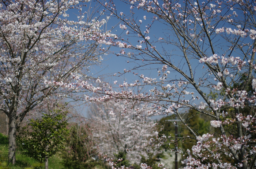
[[[9,116],[9,162],[15,164],[16,158],[16,111],[11,111]]]

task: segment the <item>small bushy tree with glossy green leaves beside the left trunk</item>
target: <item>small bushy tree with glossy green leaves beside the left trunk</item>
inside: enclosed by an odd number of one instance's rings
[[[65,135],[69,133],[66,115],[67,112],[56,109],[52,115],[44,114],[42,119],[30,119],[17,135],[22,153],[42,163],[63,149]]]

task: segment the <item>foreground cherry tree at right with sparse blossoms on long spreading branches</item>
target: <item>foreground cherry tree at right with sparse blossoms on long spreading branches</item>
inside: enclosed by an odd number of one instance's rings
[[[196,140],[191,150],[183,150],[187,151],[187,158],[182,161],[186,169],[255,168],[255,2],[123,0],[123,3],[114,0],[102,3],[105,13],[121,21],[120,29],[124,30],[120,37],[102,43],[120,47],[118,56],[138,64],[124,70],[138,80],[114,82],[118,86],[101,82],[101,87],[92,91],[105,95],[87,99],[124,101],[130,106],[148,102],[153,104],[147,110],[148,116],[174,115],[193,134],[184,139]],[[125,6],[130,12],[125,12]],[[146,77],[139,72],[142,68],[158,70],[156,76]],[[126,89],[135,86],[150,90]],[[86,85],[82,87],[91,90]],[[248,92],[250,87],[253,92]],[[183,119],[190,109],[207,115],[218,131],[199,135]],[[140,110],[137,115],[143,118]],[[175,137],[157,133],[156,137],[147,145],[176,143]],[[226,157],[233,158],[233,162]],[[141,168],[149,166],[142,164]]]

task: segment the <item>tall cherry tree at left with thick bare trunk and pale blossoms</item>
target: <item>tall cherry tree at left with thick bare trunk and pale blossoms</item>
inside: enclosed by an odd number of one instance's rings
[[[84,11],[89,1],[0,3],[0,110],[9,118],[9,161],[13,164],[16,129],[26,114],[52,95],[74,96],[79,90],[72,83],[89,78],[90,65],[102,59],[98,41],[113,36],[102,31],[106,19],[100,13]],[[77,11],[78,19],[67,19],[69,9]]]

